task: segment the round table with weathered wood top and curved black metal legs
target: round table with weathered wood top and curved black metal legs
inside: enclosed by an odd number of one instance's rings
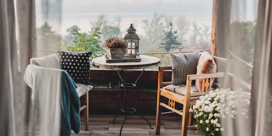
[[[122,81],[122,84],[121,84],[122,89],[121,89],[121,95],[120,95],[121,96],[122,109],[121,109],[121,112],[118,115],[115,116],[115,118],[116,118],[122,112],[125,112],[125,118],[124,118],[121,130],[120,130],[120,136],[121,136],[122,128],[124,126],[124,123],[125,123],[125,120],[127,118],[128,113],[136,112],[139,116],[141,116],[143,119],[145,119],[148,122],[150,128],[153,129],[151,127],[150,122],[137,112],[137,105],[138,105],[140,96],[139,96],[139,92],[138,92],[138,89],[137,89],[136,85],[137,85],[137,81],[144,74],[144,69],[160,66],[160,59],[156,58],[156,57],[145,56],[145,55],[140,55],[139,58],[141,58],[141,62],[106,63],[105,62],[105,57],[98,57],[98,58],[95,58],[95,59],[92,60],[92,66],[94,66],[94,67],[101,68],[101,69],[117,70],[117,74],[118,74],[118,76],[120,77],[120,79]],[[124,79],[124,75],[123,75],[123,70],[136,70],[136,69],[143,69],[143,73],[141,74],[141,76],[136,80],[135,84],[126,83],[126,81]],[[119,70],[121,70],[122,75],[120,75]],[[127,87],[135,87],[136,92],[138,94],[138,99],[137,99],[135,108],[128,108],[127,107],[127,102],[126,102]],[[125,108],[124,108],[123,100],[122,100],[123,99],[122,98],[123,88],[125,88],[125,97],[124,97]],[[112,124],[114,124],[115,118],[113,119]]]

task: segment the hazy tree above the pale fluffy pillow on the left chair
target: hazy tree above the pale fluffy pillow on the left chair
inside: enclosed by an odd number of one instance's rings
[[[47,22],[37,28],[37,47],[42,50],[60,50],[62,38]],[[44,57],[51,52],[39,51],[38,57]]]

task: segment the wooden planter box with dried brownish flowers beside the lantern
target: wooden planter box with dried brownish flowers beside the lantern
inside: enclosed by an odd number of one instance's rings
[[[118,37],[109,37],[104,43],[109,59],[124,59],[128,45]]]

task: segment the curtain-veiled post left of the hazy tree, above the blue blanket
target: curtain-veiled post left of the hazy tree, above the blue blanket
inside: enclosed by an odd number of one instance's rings
[[[37,57],[37,31],[35,0],[16,0],[18,41],[19,41],[19,71],[24,74],[30,59]]]

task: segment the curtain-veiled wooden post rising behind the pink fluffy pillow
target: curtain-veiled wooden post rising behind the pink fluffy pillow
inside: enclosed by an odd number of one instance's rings
[[[213,0],[211,55],[227,58],[232,0]]]

